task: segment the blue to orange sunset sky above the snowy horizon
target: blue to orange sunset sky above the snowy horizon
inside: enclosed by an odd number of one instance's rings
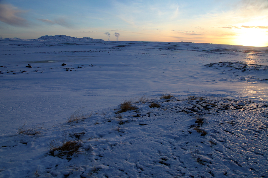
[[[0,38],[43,35],[268,46],[268,0],[0,0]]]

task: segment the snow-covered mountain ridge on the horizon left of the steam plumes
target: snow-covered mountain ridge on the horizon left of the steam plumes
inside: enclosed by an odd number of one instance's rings
[[[93,39],[90,37],[76,38],[66,35],[44,35],[37,39],[21,39],[21,38],[0,38],[1,41],[59,41],[59,42],[100,42],[103,39]]]

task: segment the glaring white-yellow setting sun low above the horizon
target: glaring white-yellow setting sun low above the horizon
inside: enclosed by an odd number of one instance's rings
[[[246,28],[236,36],[234,41],[236,45],[243,46],[268,46],[268,32],[267,29]]]

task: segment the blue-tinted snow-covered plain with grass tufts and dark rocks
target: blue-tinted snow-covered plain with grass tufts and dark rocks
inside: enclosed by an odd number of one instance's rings
[[[0,177],[268,177],[268,47],[0,46]]]

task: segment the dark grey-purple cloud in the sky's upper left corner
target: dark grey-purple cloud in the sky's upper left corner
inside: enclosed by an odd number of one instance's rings
[[[29,26],[28,20],[21,17],[28,11],[20,10],[11,4],[0,4],[0,21],[17,27]]]

